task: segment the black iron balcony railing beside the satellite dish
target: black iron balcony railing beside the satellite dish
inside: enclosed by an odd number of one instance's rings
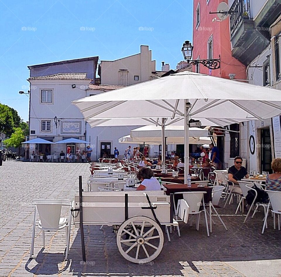
[[[230,14],[230,36],[234,34],[243,19],[250,18],[250,1],[235,0],[229,9]]]

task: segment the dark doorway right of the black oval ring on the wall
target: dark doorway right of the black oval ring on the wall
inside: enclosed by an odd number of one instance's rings
[[[261,129],[261,171],[272,173],[271,140],[269,128]]]

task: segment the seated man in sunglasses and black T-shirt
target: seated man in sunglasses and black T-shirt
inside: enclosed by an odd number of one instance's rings
[[[238,181],[241,181],[243,178],[249,178],[248,172],[244,166],[242,166],[243,159],[240,156],[234,158],[234,166],[229,167],[228,169],[228,180],[234,183],[232,192],[242,194],[241,188]],[[229,184],[228,190],[232,189],[232,183]]]

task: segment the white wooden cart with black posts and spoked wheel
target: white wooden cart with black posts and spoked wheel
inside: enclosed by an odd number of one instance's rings
[[[79,186],[80,187],[80,186]],[[82,188],[82,185],[81,185]],[[172,197],[163,191],[116,191],[83,192],[75,196],[75,225],[80,225],[81,239],[83,224],[112,226],[116,234],[116,243],[121,255],[134,263],[148,263],[161,252],[164,244],[164,232],[170,241],[169,228],[177,227],[173,219]],[[181,212],[181,218],[187,221],[188,205]],[[172,230],[172,228],[170,228]],[[82,252],[85,259],[84,241]]]

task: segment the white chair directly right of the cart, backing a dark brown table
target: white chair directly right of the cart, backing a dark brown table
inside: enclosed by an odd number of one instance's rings
[[[206,193],[207,192],[205,192],[205,191],[175,192],[173,194],[173,197],[176,194],[182,194],[183,195],[184,200],[189,205],[189,215],[190,214],[196,214],[196,230],[197,231],[199,230],[200,214],[201,214],[202,211],[204,211],[207,235],[209,237],[210,233],[209,233],[207,213],[206,213],[205,202],[204,202],[204,194],[206,194]],[[203,202],[203,210],[199,210],[200,207],[201,207],[201,202]],[[174,211],[175,211],[175,213],[177,212],[175,201],[174,201]],[[177,214],[176,214],[176,219],[177,219]],[[190,219],[190,223],[191,223],[191,218],[189,217],[189,219]]]

